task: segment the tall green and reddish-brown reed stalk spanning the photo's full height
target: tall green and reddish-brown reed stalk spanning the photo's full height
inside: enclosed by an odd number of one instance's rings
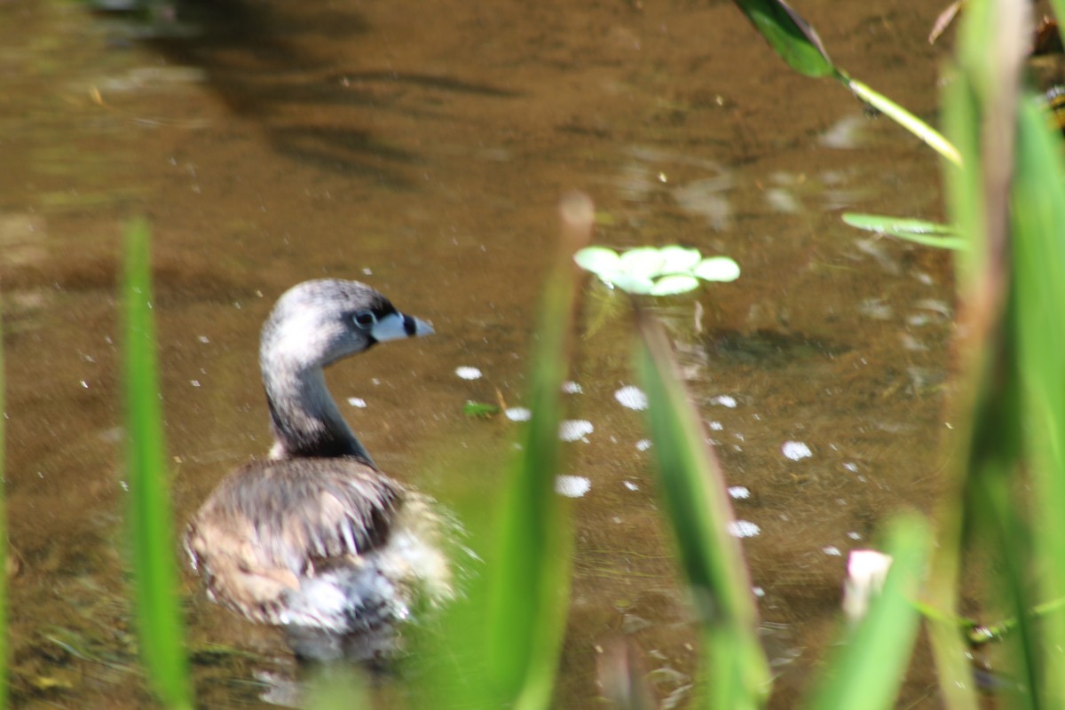
[[[962,154],[964,168],[947,170],[950,216],[969,248],[955,260],[962,307],[956,342],[961,378],[951,420],[956,448],[945,446],[944,496],[937,507],[939,545],[929,584],[931,602],[953,613],[957,594],[963,530],[980,530],[981,541],[1018,567],[1023,550],[1010,545],[1023,540],[1017,515],[996,497],[1016,467],[1016,393],[1006,380],[1016,377],[1003,317],[1009,294],[1006,199],[1013,168],[1016,86],[1023,40],[1023,7],[973,0],[958,37],[957,68],[944,99],[948,132]],[[1013,498],[1011,503],[1015,503]],[[979,517],[981,514],[986,519]],[[999,592],[1011,613],[1025,614],[1019,580],[1009,579]],[[939,686],[951,710],[978,707],[971,672],[956,627],[930,622]],[[1026,646],[1018,657],[1031,658]],[[1020,668],[1031,677],[1031,668]]]

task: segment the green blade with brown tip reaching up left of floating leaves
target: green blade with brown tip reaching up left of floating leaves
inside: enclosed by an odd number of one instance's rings
[[[563,199],[562,240],[547,281],[532,357],[522,453],[511,473],[490,560],[488,680],[497,701],[546,708],[557,673],[569,602],[570,501],[555,493],[561,420],[559,392],[569,370],[577,269],[594,210],[584,195]]]

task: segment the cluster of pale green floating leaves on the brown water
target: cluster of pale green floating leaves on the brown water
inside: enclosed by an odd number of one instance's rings
[[[703,259],[699,249],[638,247],[619,254],[606,247],[585,247],[573,255],[577,265],[611,288],[629,294],[674,296],[694,291],[699,280],[735,281],[739,265],[727,257]]]

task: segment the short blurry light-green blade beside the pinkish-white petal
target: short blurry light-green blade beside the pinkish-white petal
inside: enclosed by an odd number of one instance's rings
[[[808,707],[817,710],[880,710],[895,698],[910,661],[920,622],[915,606],[928,564],[931,533],[924,521],[905,516],[887,534],[891,569],[883,592],[842,645],[833,649]]]

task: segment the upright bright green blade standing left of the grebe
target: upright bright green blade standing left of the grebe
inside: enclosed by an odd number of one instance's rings
[[[141,654],[160,699],[192,708],[189,661],[177,596],[178,574],[170,535],[155,328],[151,313],[148,225],[126,231],[126,452],[129,536],[135,579]]]

